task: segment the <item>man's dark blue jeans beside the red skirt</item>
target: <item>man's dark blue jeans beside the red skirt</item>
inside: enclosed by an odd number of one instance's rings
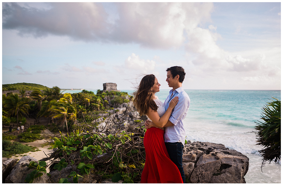
[[[171,161],[173,161],[173,163],[175,163],[175,165],[178,167],[183,179],[183,183],[185,183],[185,173],[182,166],[184,148],[183,144],[181,142],[165,142],[165,146]]]

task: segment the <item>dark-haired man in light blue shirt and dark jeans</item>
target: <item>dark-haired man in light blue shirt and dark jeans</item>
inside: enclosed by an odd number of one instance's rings
[[[168,86],[172,87],[172,89],[170,90],[169,95],[164,102],[165,109],[167,110],[170,101],[174,97],[178,96],[179,102],[173,109],[172,114],[165,126],[158,126],[155,123],[147,120],[145,122],[145,127],[146,129],[150,127],[166,127],[164,134],[165,146],[171,161],[173,161],[173,163],[175,163],[175,165],[178,167],[183,179],[183,183],[185,183],[185,174],[182,161],[186,132],[183,125],[183,120],[185,119],[190,106],[190,98],[182,87],[186,73],[183,67],[178,66],[170,67],[166,71],[166,81]]]

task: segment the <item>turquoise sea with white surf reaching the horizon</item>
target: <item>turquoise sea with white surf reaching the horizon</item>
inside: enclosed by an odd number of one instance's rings
[[[96,93],[97,90],[88,90]],[[131,94],[133,90],[121,90]],[[281,162],[266,163],[261,171],[261,159],[256,145],[255,122],[262,121],[261,108],[275,97],[278,90],[185,90],[190,108],[184,120],[186,140],[224,144],[249,158],[246,183],[281,183]],[[80,91],[64,91],[76,93]],[[156,93],[164,102],[169,90]],[[274,99],[272,99],[274,100]]]

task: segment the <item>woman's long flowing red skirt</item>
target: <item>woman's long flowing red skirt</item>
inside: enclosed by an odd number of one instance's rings
[[[151,127],[145,132],[145,166],[141,174],[141,183],[183,183],[179,169],[168,155],[164,132],[156,127]]]

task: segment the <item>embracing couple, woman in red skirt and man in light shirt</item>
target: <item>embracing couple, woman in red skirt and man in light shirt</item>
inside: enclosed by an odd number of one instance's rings
[[[141,183],[185,183],[182,160],[186,132],[183,119],[190,106],[190,98],[182,87],[186,73],[178,66],[166,71],[166,81],[172,89],[164,103],[155,95],[160,84],[153,74],[144,76],[134,92],[135,107],[140,115],[148,118],[143,140],[146,156]]]

